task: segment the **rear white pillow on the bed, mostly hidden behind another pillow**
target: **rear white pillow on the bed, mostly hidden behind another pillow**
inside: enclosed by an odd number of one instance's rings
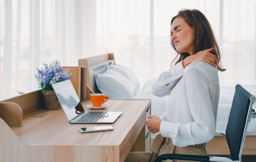
[[[140,82],[138,81],[136,75],[127,67],[122,66],[122,65],[109,65],[107,66],[107,69],[112,69],[114,71],[119,72],[122,76],[127,78],[129,81],[131,81],[132,85],[136,88],[140,88]]]

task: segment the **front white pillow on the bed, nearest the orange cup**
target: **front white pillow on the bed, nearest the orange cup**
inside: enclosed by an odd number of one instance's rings
[[[95,75],[98,89],[109,98],[133,99],[136,88],[119,72],[112,69],[102,74]]]

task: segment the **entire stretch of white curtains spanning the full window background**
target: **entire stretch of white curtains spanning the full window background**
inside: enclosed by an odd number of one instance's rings
[[[114,53],[143,87],[171,68],[171,18],[198,9],[222,52],[222,86],[256,82],[255,0],[0,0],[0,100],[37,89],[36,67]]]

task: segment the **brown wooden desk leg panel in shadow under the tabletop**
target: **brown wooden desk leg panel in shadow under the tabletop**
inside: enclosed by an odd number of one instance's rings
[[[145,141],[145,130],[146,129],[146,125],[143,126],[138,138],[136,139],[135,143],[132,146],[132,149],[130,150],[130,152],[145,152],[146,150],[146,141]]]

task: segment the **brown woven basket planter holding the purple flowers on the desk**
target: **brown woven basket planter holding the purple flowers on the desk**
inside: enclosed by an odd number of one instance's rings
[[[61,104],[57,99],[54,90],[43,90],[44,92],[44,103],[47,110],[58,110],[61,109]]]

